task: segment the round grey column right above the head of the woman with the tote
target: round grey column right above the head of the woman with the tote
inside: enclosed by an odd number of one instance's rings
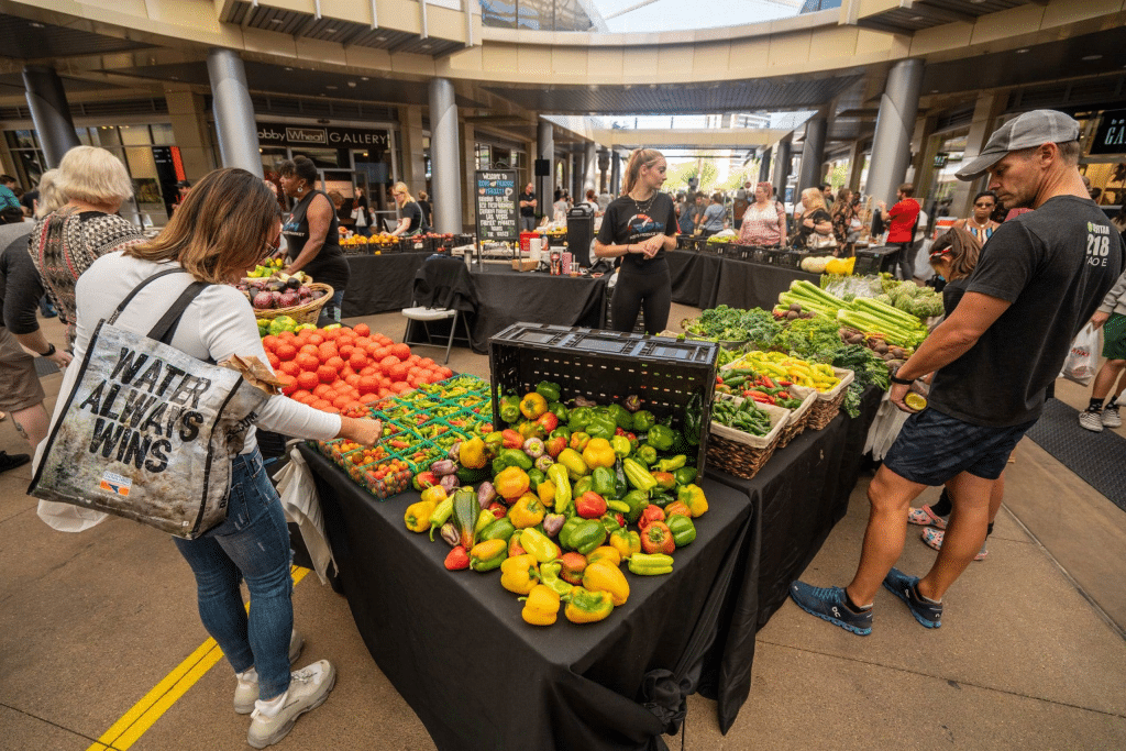
[[[218,134],[223,167],[240,167],[262,177],[254,106],[250,102],[242,59],[233,50],[215,47],[207,53],[207,74],[214,97],[212,108],[215,110],[215,132]]]

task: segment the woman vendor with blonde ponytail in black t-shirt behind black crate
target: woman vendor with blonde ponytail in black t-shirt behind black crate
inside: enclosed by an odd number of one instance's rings
[[[659,193],[667,169],[660,151],[633,152],[622,181],[622,197],[606,207],[595,241],[595,256],[622,259],[610,303],[615,331],[633,331],[642,309],[646,333],[659,333],[669,323],[672,279],[664,253],[677,244],[677,214],[672,197]]]

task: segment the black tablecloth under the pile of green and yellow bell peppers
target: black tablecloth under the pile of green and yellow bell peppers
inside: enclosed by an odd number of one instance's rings
[[[628,575],[628,602],[601,623],[575,626],[561,613],[536,628],[500,572],[446,571],[446,544],[404,528],[417,494],[379,502],[301,450],[360,635],[439,749],[665,748],[643,687],[682,679],[673,705],[695,690],[751,527],[745,493],[704,481],[711,510],[672,574]]]

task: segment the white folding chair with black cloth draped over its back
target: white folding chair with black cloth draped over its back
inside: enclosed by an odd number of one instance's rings
[[[423,302],[426,304],[419,304]],[[412,307],[403,309],[403,315],[411,322],[422,325],[426,341],[411,340],[411,323],[406,324],[403,333],[403,343],[411,347],[441,347],[435,343],[430,334],[429,324],[434,321],[449,320],[449,337],[446,339],[446,359],[449,363],[449,352],[454,347],[454,336],[457,333],[457,322],[462,322],[465,330],[466,341],[472,342],[473,334],[470,332],[467,313],[476,311],[476,288],[473,284],[473,276],[461,259],[434,258],[427,260],[422,268],[414,276],[414,294],[411,302]],[[438,306],[440,305],[440,306]]]

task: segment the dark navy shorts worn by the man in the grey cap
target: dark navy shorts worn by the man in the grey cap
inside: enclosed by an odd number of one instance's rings
[[[1035,423],[992,428],[923,410],[908,418],[884,465],[920,485],[942,485],[963,472],[997,480],[1012,449]]]

